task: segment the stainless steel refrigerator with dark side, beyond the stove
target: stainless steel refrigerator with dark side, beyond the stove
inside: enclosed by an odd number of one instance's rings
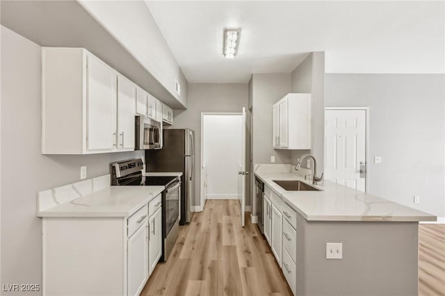
[[[162,149],[145,150],[147,172],[182,172],[180,225],[191,222],[195,198],[195,132],[164,129]]]

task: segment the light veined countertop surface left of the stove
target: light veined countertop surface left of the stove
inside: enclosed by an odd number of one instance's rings
[[[129,217],[165,189],[164,186],[108,186],[38,211],[38,217]]]

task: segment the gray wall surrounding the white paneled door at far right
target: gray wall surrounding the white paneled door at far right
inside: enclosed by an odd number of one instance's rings
[[[444,87],[444,74],[326,74],[326,106],[369,107],[370,192],[439,217],[445,217]],[[382,163],[374,164],[374,156]]]

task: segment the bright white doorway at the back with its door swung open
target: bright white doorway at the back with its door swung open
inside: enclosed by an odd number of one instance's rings
[[[207,199],[237,199],[244,226],[246,113],[201,115],[201,204]]]

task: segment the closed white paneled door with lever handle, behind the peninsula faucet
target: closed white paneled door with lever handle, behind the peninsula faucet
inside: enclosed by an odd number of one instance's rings
[[[365,191],[366,110],[325,110],[325,179]]]

